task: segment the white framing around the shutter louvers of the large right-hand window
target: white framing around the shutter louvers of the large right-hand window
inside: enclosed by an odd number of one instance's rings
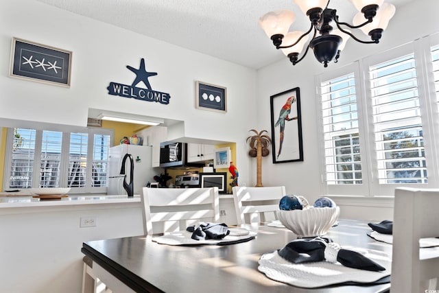
[[[363,58],[350,65],[316,75],[316,97],[318,101],[319,121],[319,156],[321,187],[327,195],[345,196],[393,196],[396,187],[438,188],[439,186],[439,115],[436,103],[430,49],[439,45],[439,33],[427,36],[420,40],[401,45],[374,56]],[[399,58],[407,54],[414,54],[416,62],[416,76],[420,104],[420,117],[423,127],[425,158],[427,160],[428,183],[387,183],[380,184],[378,180],[377,152],[375,148],[375,126],[372,117],[372,98],[369,81],[369,67]],[[362,185],[328,185],[326,182],[324,131],[322,121],[322,97],[320,86],[322,82],[339,78],[348,73],[355,75],[355,91],[357,95],[357,115],[360,139]],[[438,89],[439,93],[439,89]]]

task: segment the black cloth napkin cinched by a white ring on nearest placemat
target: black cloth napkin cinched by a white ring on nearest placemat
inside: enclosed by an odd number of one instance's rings
[[[284,248],[278,250],[278,255],[292,263],[327,260],[334,263],[338,261],[349,268],[372,270],[374,272],[385,270],[378,263],[361,255],[361,253],[340,248],[331,239],[322,237],[293,240]]]

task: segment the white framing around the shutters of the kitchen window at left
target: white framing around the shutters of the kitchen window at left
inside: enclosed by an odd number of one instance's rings
[[[44,129],[32,128],[29,126],[17,126],[16,128],[27,128],[36,130],[36,142],[34,151],[34,170],[32,174],[32,187],[39,187],[40,183],[40,164],[41,164],[41,149],[42,149],[42,134],[43,131],[55,131],[62,132],[62,146],[61,146],[61,161],[60,161],[60,178],[59,187],[68,187],[68,174],[69,174],[69,156],[70,156],[70,136],[71,133],[87,133],[87,159],[86,159],[86,184],[84,187],[72,187],[71,192],[75,194],[105,194],[107,191],[107,185],[102,187],[93,186],[93,148],[95,134],[108,135],[110,137],[108,148],[112,146],[114,141],[114,130],[108,128],[69,128],[68,130],[60,130],[59,127],[51,128],[45,127]],[[12,164],[12,148],[14,139],[14,127],[8,128],[6,131],[6,150],[5,150],[5,164],[3,169],[3,187],[10,188],[10,170]],[[107,163],[108,164],[108,163]],[[107,174],[108,178],[108,174]]]

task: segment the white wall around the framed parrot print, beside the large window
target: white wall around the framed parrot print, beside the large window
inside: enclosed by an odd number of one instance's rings
[[[298,65],[293,66],[287,58],[265,67],[258,72],[258,116],[259,129],[271,129],[270,125],[270,96],[295,87],[300,88],[300,102],[302,111],[302,138],[304,161],[296,163],[272,164],[271,156],[263,159],[263,183],[270,185],[285,185],[287,193],[305,196],[308,200],[316,200],[324,192],[319,170],[319,125],[316,119],[319,110],[316,97],[316,75],[340,68],[346,64],[360,60],[372,54],[403,45],[439,31],[437,11],[439,1],[416,0],[400,10],[396,10],[388,29],[383,33],[379,45],[362,45],[349,40],[337,64],[331,62],[327,69],[320,65],[308,52]],[[342,16],[340,16],[342,17]],[[365,36],[366,37],[366,36]],[[363,38],[366,39],[366,38]],[[273,47],[274,49],[274,47]],[[282,52],[279,51],[282,55]],[[271,133],[271,131],[270,131]],[[355,201],[356,199],[354,199]],[[347,204],[346,200],[342,200]],[[383,213],[375,213],[377,207],[370,204],[368,207],[347,205],[342,208],[342,216],[354,218],[389,217],[392,209],[385,208]],[[364,204],[368,204],[365,202]],[[381,215],[381,216],[380,216]],[[370,218],[367,218],[370,219]],[[376,218],[375,218],[376,219]]]

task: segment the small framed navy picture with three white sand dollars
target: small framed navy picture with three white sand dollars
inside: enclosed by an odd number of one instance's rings
[[[206,82],[195,82],[195,108],[226,113],[227,89]]]

